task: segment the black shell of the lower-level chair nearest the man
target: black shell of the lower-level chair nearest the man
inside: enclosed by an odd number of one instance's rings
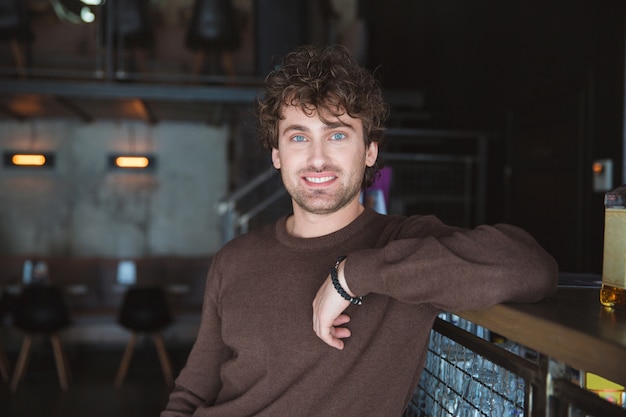
[[[172,321],[165,291],[161,287],[133,287],[124,295],[118,322],[137,332],[161,330]]]

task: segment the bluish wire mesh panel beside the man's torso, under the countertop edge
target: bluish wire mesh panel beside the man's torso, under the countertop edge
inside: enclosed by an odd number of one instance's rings
[[[523,354],[519,345],[503,347],[516,355]],[[424,371],[404,417],[523,416],[525,398],[521,376],[431,332]]]

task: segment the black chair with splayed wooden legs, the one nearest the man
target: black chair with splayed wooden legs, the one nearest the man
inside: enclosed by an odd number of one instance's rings
[[[130,330],[132,334],[124,350],[122,362],[115,378],[115,386],[117,388],[124,383],[137,342],[137,336],[140,333],[149,333],[152,336],[165,381],[168,385],[173,385],[172,364],[161,335],[161,330],[171,322],[172,315],[165,297],[165,291],[162,288],[134,287],[126,292],[120,308],[118,323]]]

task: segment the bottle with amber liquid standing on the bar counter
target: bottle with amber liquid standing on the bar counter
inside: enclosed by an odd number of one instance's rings
[[[600,302],[626,309],[626,185],[604,196],[604,258]]]

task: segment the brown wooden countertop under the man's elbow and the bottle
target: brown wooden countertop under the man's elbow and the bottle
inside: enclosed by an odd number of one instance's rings
[[[600,304],[598,288],[559,287],[538,303],[456,313],[555,360],[626,385],[626,310]]]

